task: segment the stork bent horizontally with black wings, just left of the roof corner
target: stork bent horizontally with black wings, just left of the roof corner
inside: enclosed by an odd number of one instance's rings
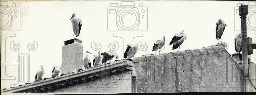
[[[116,58],[118,59],[118,55],[116,54],[116,52],[112,51],[112,52],[104,52],[104,53],[101,53],[101,55],[103,55],[103,58],[102,58],[102,64],[104,63],[111,63],[111,60]]]

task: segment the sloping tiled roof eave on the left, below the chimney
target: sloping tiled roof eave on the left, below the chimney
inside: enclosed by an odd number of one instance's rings
[[[127,60],[129,61],[129,60]],[[127,61],[119,61],[106,65],[98,65],[96,68],[87,70],[76,70],[76,72],[69,72],[61,74],[57,77],[44,78],[36,80],[32,83],[26,83],[17,87],[1,90],[1,93],[48,93],[57,89],[67,88],[76,84],[84,82],[95,81],[105,76],[118,75],[127,71],[131,71],[131,65]],[[101,71],[105,71],[102,73]]]

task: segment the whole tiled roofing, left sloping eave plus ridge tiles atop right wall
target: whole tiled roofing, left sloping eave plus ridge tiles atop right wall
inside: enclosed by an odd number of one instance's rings
[[[202,49],[185,50],[178,52],[170,52],[172,57],[185,55],[185,54],[203,54],[203,53],[220,53],[220,51],[226,51],[226,43],[220,43],[208,47],[203,47]],[[70,85],[82,84],[84,82],[95,81],[102,76],[110,76],[113,74],[120,74],[123,72],[131,71],[131,66],[144,61],[150,61],[155,59],[162,59],[169,57],[169,54],[160,55],[149,55],[135,57],[130,60],[124,60],[119,62],[114,62],[113,64],[106,64],[96,68],[91,68],[89,70],[70,72],[67,74],[61,74],[58,77],[44,78],[41,81],[35,81],[33,83],[26,83],[25,85],[20,85],[18,87],[12,87],[9,89],[1,90],[1,93],[48,93],[55,91],[56,89],[67,88]],[[227,56],[231,56],[226,51]],[[123,69],[124,67],[124,69]],[[107,69],[108,68],[108,69]],[[100,73],[101,71],[106,71],[106,73]]]

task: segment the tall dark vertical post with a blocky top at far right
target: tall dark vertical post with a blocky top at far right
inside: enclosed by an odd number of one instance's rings
[[[247,62],[247,32],[246,32],[246,15],[248,14],[248,5],[239,6],[239,15],[241,16],[242,42],[244,43],[242,50],[242,65],[243,65],[243,83],[245,84],[244,92],[247,92],[248,79],[248,62]]]

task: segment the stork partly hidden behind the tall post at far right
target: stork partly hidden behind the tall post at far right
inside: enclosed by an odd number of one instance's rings
[[[237,53],[240,53],[242,51],[242,34],[238,34],[235,37],[235,50]]]

